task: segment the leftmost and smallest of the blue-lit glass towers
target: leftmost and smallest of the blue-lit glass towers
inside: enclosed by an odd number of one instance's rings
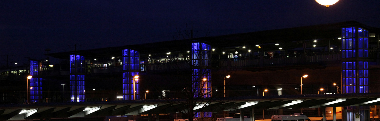
[[[32,75],[30,79],[30,102],[40,102],[42,99],[42,78],[40,77],[40,71],[42,63],[39,61],[29,60],[30,68],[29,72]]]

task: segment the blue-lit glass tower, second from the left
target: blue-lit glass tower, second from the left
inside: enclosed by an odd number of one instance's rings
[[[80,55],[70,55],[70,102],[84,102],[85,85],[84,74],[86,74],[84,68],[84,57]]]

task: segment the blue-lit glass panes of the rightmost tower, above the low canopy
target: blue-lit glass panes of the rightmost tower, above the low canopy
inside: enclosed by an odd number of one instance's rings
[[[368,44],[368,31],[357,27],[342,28],[342,58],[367,58]],[[368,62],[342,62],[342,92],[368,93],[368,75]]]

